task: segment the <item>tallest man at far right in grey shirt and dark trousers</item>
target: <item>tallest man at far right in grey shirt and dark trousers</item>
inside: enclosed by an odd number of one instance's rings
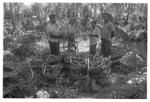
[[[104,26],[101,35],[101,53],[103,57],[109,57],[111,56],[111,38],[115,34],[115,28],[112,23],[112,16],[109,13],[104,13],[102,18],[104,19]]]

